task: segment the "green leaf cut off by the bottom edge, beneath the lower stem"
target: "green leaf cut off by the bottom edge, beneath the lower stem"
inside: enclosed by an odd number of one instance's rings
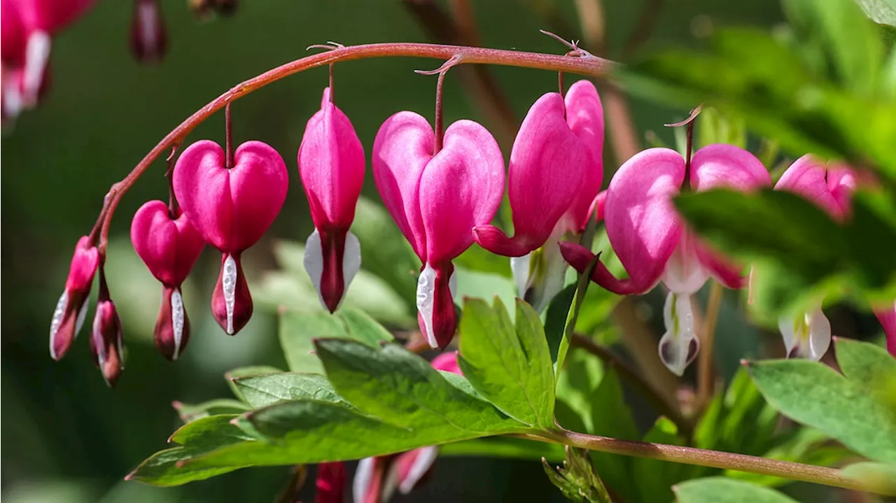
[[[724,477],[683,482],[675,494],[678,503],[797,503],[778,491]]]

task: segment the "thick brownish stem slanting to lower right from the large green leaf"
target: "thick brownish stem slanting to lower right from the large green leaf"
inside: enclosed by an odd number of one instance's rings
[[[721,470],[759,473],[793,481],[814,482],[843,489],[875,492],[887,496],[896,495],[896,491],[884,490],[884,492],[880,492],[881,488],[867,487],[863,482],[845,476],[840,470],[825,466],[804,465],[802,463],[780,461],[759,456],[746,456],[744,454],[717,450],[611,439],[609,437],[586,435],[566,430],[530,433],[526,438],[610,454],[649,457],[650,459],[671,461],[685,465],[709,466]]]

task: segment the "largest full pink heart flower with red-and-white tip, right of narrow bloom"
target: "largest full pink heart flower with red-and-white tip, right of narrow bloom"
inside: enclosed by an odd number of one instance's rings
[[[413,112],[392,115],[376,133],[374,180],[386,209],[423,262],[417,286],[420,329],[433,347],[457,327],[452,260],[470,248],[472,229],[495,217],[504,191],[504,158],[486,128],[458,121],[435,133]]]

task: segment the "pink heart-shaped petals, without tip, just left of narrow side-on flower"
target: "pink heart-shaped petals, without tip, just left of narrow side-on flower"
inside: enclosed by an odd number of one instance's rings
[[[187,219],[207,243],[238,253],[262,237],[286,200],[289,174],[276,150],[246,141],[225,166],[214,141],[197,141],[174,168],[174,192]]]

